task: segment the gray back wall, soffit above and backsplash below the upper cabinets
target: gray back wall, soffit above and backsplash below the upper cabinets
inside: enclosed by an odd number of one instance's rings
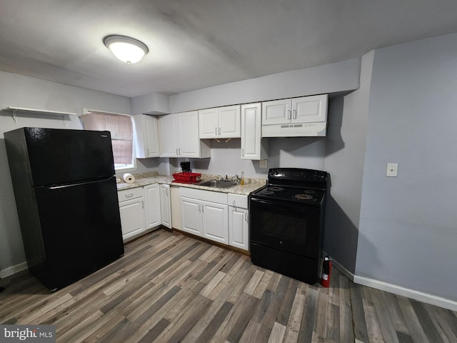
[[[293,96],[336,93],[358,89],[360,59],[232,82],[170,96],[171,112],[191,111],[214,106],[244,104]],[[331,122],[332,114],[329,113]],[[269,139],[268,168],[291,166],[323,169],[325,138]],[[179,170],[179,161],[171,161],[171,172]],[[241,159],[241,141],[211,141],[211,159],[191,159],[194,172],[266,178],[268,168],[258,161]]]

